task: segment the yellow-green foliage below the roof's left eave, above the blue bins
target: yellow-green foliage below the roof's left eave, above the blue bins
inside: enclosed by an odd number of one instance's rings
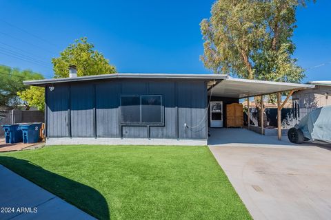
[[[40,111],[45,109],[45,88],[30,86],[24,91],[17,92],[17,95],[23,100],[27,109],[30,107],[37,107]]]

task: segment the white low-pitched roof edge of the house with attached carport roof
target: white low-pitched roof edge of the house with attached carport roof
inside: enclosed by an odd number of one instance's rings
[[[46,87],[58,83],[74,83],[96,80],[114,80],[118,78],[159,79],[159,80],[204,80],[207,82],[208,95],[229,98],[247,98],[274,94],[279,91],[291,91],[314,88],[314,85],[299,83],[280,83],[263,80],[231,78],[223,74],[105,74],[80,76],[75,78],[52,78],[24,81],[24,85]]]

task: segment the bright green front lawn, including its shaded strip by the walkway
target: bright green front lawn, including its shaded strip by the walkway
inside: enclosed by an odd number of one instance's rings
[[[98,219],[252,219],[206,146],[50,146],[0,164]]]

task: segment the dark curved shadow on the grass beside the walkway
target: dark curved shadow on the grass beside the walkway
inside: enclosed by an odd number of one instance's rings
[[[52,173],[24,159],[0,156],[0,164],[98,219],[110,219],[106,199],[94,188]]]

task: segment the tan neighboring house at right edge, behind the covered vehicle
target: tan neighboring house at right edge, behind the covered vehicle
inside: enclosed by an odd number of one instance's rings
[[[315,85],[312,89],[295,91],[292,100],[299,104],[300,108],[317,108],[331,105],[331,81],[312,81]]]

